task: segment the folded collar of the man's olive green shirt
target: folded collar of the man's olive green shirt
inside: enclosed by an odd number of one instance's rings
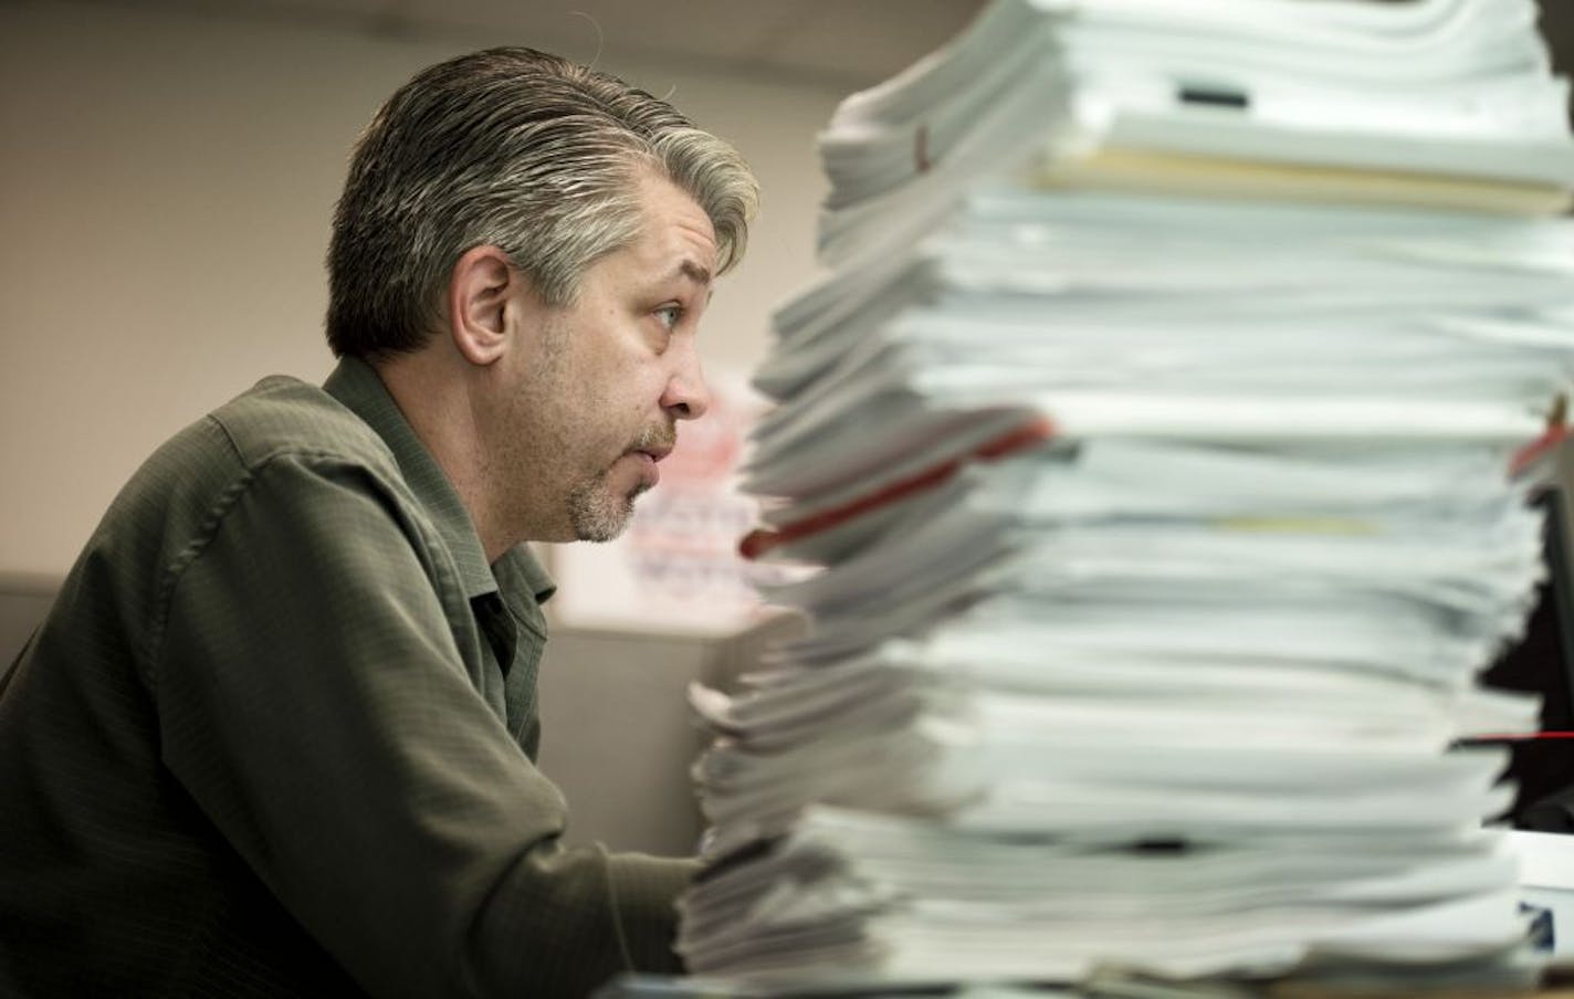
[[[405,474],[411,492],[431,514],[444,544],[453,552],[466,598],[475,599],[485,593],[496,593],[499,579],[505,593],[518,592],[516,587],[523,585],[535,596],[537,603],[546,601],[556,592],[556,584],[524,544],[516,544],[504,552],[497,558],[497,574],[494,574],[494,566],[486,563],[486,551],[475,533],[471,513],[460,500],[460,494],[455,492],[453,483],[449,481],[431,452],[411,429],[398,403],[389,395],[371,365],[359,357],[345,357],[323,382],[323,389],[365,420],[367,426],[375,429],[394,452],[394,459],[398,463],[400,472]]]

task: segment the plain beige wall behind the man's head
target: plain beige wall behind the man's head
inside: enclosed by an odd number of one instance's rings
[[[321,260],[354,135],[416,69],[529,41],[0,5],[0,571],[65,571],[164,437],[263,374],[327,373]],[[841,91],[598,65],[760,175],[749,260],[702,332],[707,363],[752,365],[812,274],[812,142]]]

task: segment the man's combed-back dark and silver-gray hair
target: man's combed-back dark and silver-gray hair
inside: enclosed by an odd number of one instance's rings
[[[422,71],[356,143],[327,250],[329,346],[419,349],[445,313],[453,264],[477,245],[568,305],[586,267],[637,236],[642,170],[710,216],[718,272],[743,256],[754,175],[666,101],[534,49]]]

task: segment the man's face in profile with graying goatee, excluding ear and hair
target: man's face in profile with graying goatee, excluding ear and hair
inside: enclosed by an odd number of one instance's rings
[[[573,305],[526,302],[537,349],[510,378],[496,455],[515,521],[541,541],[609,541],[656,485],[677,422],[705,412],[694,337],[716,238],[682,189],[647,176],[634,242],[592,264]],[[526,291],[527,297],[534,293]]]

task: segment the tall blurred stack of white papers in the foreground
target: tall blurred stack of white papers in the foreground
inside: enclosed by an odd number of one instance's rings
[[[823,137],[700,974],[1503,961],[1574,145],[1528,0],[1012,0]]]

